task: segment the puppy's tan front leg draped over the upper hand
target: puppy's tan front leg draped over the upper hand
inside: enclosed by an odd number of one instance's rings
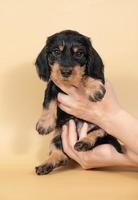
[[[85,92],[91,101],[100,101],[105,94],[105,87],[101,80],[93,79],[88,76],[84,76],[82,79]]]

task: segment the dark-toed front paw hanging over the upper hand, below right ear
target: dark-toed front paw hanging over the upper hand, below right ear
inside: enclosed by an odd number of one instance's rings
[[[95,90],[92,91],[92,93],[89,96],[89,100],[94,102],[101,101],[105,95],[105,92],[106,90],[104,85],[99,85],[98,88],[95,88]]]

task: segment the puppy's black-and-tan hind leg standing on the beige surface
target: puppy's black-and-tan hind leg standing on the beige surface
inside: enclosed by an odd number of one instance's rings
[[[56,129],[56,136],[52,139],[50,145],[50,154],[48,160],[44,164],[36,167],[36,173],[38,175],[48,174],[53,171],[53,169],[67,164],[69,158],[63,153],[60,134],[61,129]]]

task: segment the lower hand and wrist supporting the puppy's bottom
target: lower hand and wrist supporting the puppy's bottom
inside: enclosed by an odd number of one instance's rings
[[[87,135],[87,123],[84,123],[80,131],[80,138]],[[73,160],[81,165],[83,169],[100,168],[107,166],[137,166],[138,156],[129,149],[124,149],[120,154],[110,144],[96,146],[90,151],[78,152],[74,149],[77,142],[76,125],[73,120],[68,125],[63,126],[62,143],[64,152]]]

